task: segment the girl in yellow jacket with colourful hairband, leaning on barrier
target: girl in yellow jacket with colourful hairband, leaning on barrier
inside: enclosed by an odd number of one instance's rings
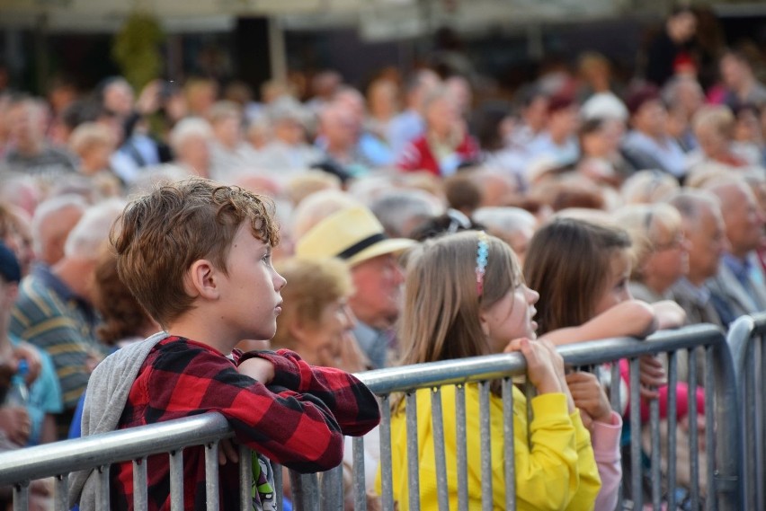
[[[527,421],[524,395],[513,388],[513,438],[503,436],[503,402],[490,396],[493,507],[505,508],[505,441],[513,442],[516,504],[525,509],[593,508],[601,487],[589,433],[566,385],[564,364],[547,341],[536,341],[532,321],[539,295],[524,285],[521,269],[504,242],[465,232],[425,242],[409,258],[400,339],[401,364],[521,351],[538,395]],[[417,392],[421,509],[438,508],[431,390]],[[450,509],[458,508],[455,387],[441,388]],[[466,386],[468,509],[481,508],[479,390]],[[405,404],[391,418],[394,499],[409,508]],[[378,483],[380,481],[378,480]],[[379,485],[378,485],[379,486]]]

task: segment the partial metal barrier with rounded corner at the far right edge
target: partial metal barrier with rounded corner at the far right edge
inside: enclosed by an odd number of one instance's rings
[[[766,313],[742,316],[727,335],[739,386],[744,509],[766,509]]]

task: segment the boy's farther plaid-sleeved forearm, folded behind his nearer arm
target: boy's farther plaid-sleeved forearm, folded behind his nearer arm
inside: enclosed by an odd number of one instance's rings
[[[251,357],[261,357],[274,366],[269,386],[283,387],[309,394],[332,412],[343,435],[362,436],[380,422],[375,394],[352,374],[332,367],[311,366],[289,349],[252,351],[239,358],[241,364]]]

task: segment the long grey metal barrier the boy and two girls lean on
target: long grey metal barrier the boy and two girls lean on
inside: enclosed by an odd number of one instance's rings
[[[697,349],[695,349],[697,348]],[[661,332],[650,339],[638,341],[636,339],[605,339],[559,348],[567,364],[571,366],[596,366],[610,363],[621,358],[629,360],[631,402],[639,401],[638,380],[638,357],[649,354],[668,353],[668,378],[670,392],[668,396],[669,410],[675,410],[676,393],[674,383],[678,379],[678,367],[676,354],[682,350],[690,353],[690,415],[696,415],[696,401],[694,389],[697,386],[696,369],[694,359],[698,350],[704,350],[708,369],[705,374],[705,415],[707,427],[705,438],[708,452],[708,470],[699,474],[699,462],[697,447],[699,431],[696,421],[690,421],[690,472],[692,484],[690,488],[692,508],[698,509],[701,500],[699,490],[699,477],[707,481],[708,496],[705,499],[707,509],[722,511],[740,510],[742,503],[742,485],[740,471],[742,470],[742,450],[740,442],[740,420],[737,412],[737,385],[735,382],[735,369],[731,352],[726,344],[723,333],[711,325],[699,325],[687,327],[682,330]],[[419,366],[396,367],[370,371],[359,374],[361,380],[379,395],[383,421],[379,428],[380,434],[380,464],[382,474],[382,507],[386,510],[394,509],[392,468],[391,468],[391,441],[390,441],[390,398],[395,392],[405,392],[407,409],[407,421],[413,422],[415,414],[414,391],[420,388],[434,389],[436,396],[433,402],[441,403],[439,388],[441,385],[463,383],[478,383],[480,395],[481,429],[482,436],[488,435],[489,426],[489,382],[495,379],[502,380],[503,387],[503,417],[511,419],[506,425],[512,427],[512,376],[523,374],[525,363],[519,354],[495,355],[490,357],[476,357],[464,360],[453,360]],[[712,370],[710,370],[712,368]],[[619,381],[619,367],[617,364],[610,370],[611,381]],[[616,409],[619,409],[619,385],[612,386],[611,401]],[[441,422],[441,409],[434,406],[434,442],[437,460],[443,461],[443,429]],[[461,406],[458,400],[457,406],[458,433],[460,424],[463,425],[463,437],[465,435],[465,403]],[[650,423],[652,429],[652,449],[648,453],[651,473],[652,489],[651,500],[655,509],[667,505],[673,509],[672,492],[664,497],[661,495],[661,484],[673,488],[675,486],[675,457],[668,456],[667,471],[663,473],[660,467],[660,435],[659,435],[659,406],[658,401],[653,400],[650,405]],[[675,415],[669,413],[669,436],[668,453],[675,453],[676,447],[676,422]],[[632,431],[641,428],[640,410],[637,406],[631,406],[630,417],[627,419]],[[408,426],[409,428],[410,426]],[[146,471],[142,469],[145,463],[140,463],[147,455],[169,453],[171,456],[172,470],[177,470],[172,480],[173,509],[182,509],[183,503],[180,496],[183,489],[179,484],[183,483],[180,468],[182,466],[182,449],[190,445],[206,446],[206,469],[208,473],[208,509],[218,509],[218,465],[217,449],[218,441],[231,436],[231,430],[227,422],[218,414],[205,414],[194,418],[184,418],[168,421],[162,424],[137,427],[129,430],[112,432],[100,436],[89,436],[82,439],[68,440],[56,444],[42,445],[22,449],[0,455],[0,484],[14,485],[14,509],[27,509],[28,481],[54,476],[57,481],[56,509],[66,509],[67,473],[70,471],[84,470],[98,467],[102,474],[101,495],[102,502],[108,502],[108,466],[124,460],[134,460],[134,484],[146,486]],[[512,429],[510,434],[512,436]],[[414,431],[408,431],[407,449],[409,455],[409,480],[410,486],[410,509],[420,508],[418,502],[419,492],[417,461],[414,454],[417,453],[417,438]],[[629,484],[633,495],[633,508],[641,509],[641,474],[645,468],[642,466],[642,446],[638,435],[631,437],[631,463],[633,478],[624,481]],[[488,445],[488,444],[483,444]],[[353,439],[353,508],[365,510],[367,501],[365,496],[365,477],[363,467],[364,439]],[[489,463],[489,452],[482,453],[482,508],[492,509],[492,479],[493,470]],[[246,449],[240,453],[247,456]],[[246,458],[243,458],[246,459]],[[467,496],[467,453],[465,442],[459,447],[459,509],[468,509]],[[444,463],[439,461],[437,465],[437,481],[441,489],[446,489],[447,475]],[[249,481],[247,473],[248,463],[241,463],[241,480]],[[174,468],[173,468],[174,467]],[[508,509],[515,508],[513,477],[513,443],[506,443],[505,465],[502,470],[505,473],[506,502]],[[281,474],[279,467],[275,467],[276,476]],[[297,475],[290,473],[291,491],[294,508],[300,510],[325,510],[343,509],[343,467],[323,474]],[[281,480],[276,481],[278,493],[281,494]],[[242,485],[244,490],[241,495],[243,509],[249,508],[249,483]],[[446,492],[440,496],[440,509],[445,509],[447,504]],[[137,492],[136,509],[146,509],[146,492]],[[665,500],[664,502],[662,500]],[[620,504],[621,506],[621,504]],[[695,507],[696,506],[696,507]],[[279,503],[280,509],[281,502]],[[108,505],[100,506],[99,509],[107,509]]]

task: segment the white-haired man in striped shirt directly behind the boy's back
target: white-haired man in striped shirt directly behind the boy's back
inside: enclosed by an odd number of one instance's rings
[[[13,306],[11,333],[45,350],[56,368],[64,403],[64,412],[56,418],[59,437],[66,438],[77,400],[106,349],[95,336],[91,279],[123,206],[110,199],[89,207],[67,237],[64,258],[52,267],[34,267],[22,280]]]

